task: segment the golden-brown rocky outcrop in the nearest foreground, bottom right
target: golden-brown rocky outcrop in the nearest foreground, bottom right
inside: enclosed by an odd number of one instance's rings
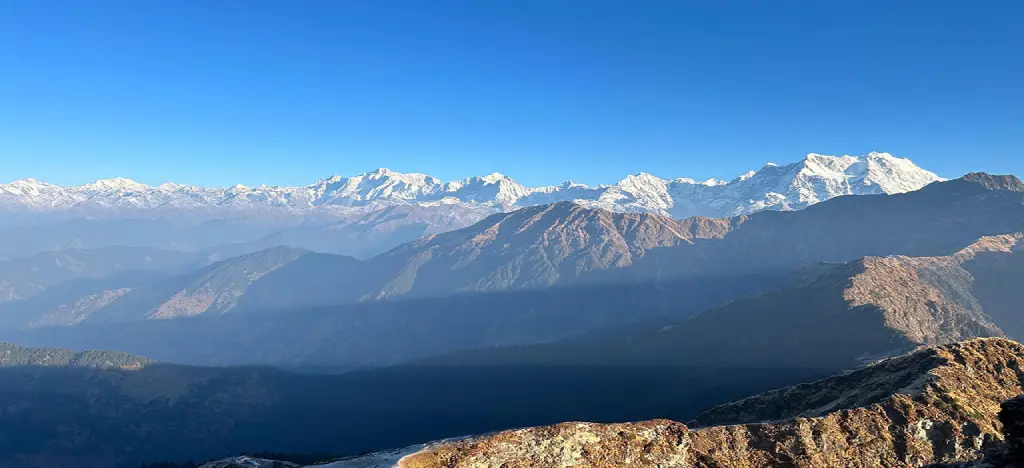
[[[427,467],[920,467],[971,462],[1002,439],[1000,403],[1024,392],[1024,346],[988,338],[925,349],[700,415],[562,423],[433,445]],[[703,426],[703,427],[698,427]]]

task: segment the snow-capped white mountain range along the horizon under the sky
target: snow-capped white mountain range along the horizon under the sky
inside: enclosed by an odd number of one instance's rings
[[[499,173],[442,182],[426,174],[388,169],[328,177],[306,186],[151,186],[126,178],[61,186],[24,179],[0,184],[0,211],[88,216],[185,212],[223,217],[266,210],[299,215],[351,214],[394,205],[457,204],[493,212],[573,201],[592,208],[677,218],[727,217],[762,210],[797,210],[844,195],[915,190],[936,180],[941,178],[888,153],[861,157],[810,154],[800,162],[767,164],[730,181],[665,179],[640,173],[599,186],[564,182],[527,187]]]

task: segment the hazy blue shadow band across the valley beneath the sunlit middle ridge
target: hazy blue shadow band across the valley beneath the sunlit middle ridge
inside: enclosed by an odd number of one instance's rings
[[[303,262],[303,267],[310,261],[334,264],[336,258],[344,257],[309,254],[293,264]],[[340,372],[462,349],[573,337],[596,339],[624,327],[671,324],[735,298],[773,289],[788,276],[790,273],[778,272],[667,283],[584,285],[300,309],[253,310],[240,306],[240,310],[223,314],[167,321],[86,322],[76,327],[44,327],[2,332],[2,335],[9,341],[29,345],[119,349],[180,364],[262,364]],[[162,297],[170,297],[181,289],[177,284],[171,286]],[[263,297],[264,293],[256,294]],[[252,300],[242,297],[243,302]],[[274,303],[272,298],[267,299],[265,303]],[[146,309],[152,307],[143,305]]]

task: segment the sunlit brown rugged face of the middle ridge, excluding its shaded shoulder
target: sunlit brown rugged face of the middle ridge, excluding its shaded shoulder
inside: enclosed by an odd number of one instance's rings
[[[493,215],[367,262],[369,297],[451,294],[570,284],[624,268],[652,249],[717,237],[733,221],[612,213],[562,202]]]

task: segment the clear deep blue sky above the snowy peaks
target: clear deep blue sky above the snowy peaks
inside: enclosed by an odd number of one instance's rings
[[[1024,175],[1024,2],[0,2],[0,180]]]

